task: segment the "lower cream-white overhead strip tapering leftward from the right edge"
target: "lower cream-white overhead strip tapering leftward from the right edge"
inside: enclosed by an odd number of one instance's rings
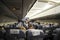
[[[59,10],[60,10],[60,6],[57,6],[57,7],[53,8],[53,9],[50,9],[50,10],[45,11],[43,13],[32,16],[32,17],[30,17],[30,19],[35,19],[35,18],[41,18],[41,17],[45,17],[45,16],[49,16],[49,15],[60,14]]]

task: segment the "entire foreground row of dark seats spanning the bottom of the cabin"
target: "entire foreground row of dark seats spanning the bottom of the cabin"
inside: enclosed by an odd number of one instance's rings
[[[20,30],[18,27],[3,28],[3,30],[0,30],[0,40],[59,40],[58,37],[60,31],[57,29],[55,30],[54,27],[44,29],[27,29],[26,32]],[[45,35],[45,29],[50,30],[47,35]],[[53,35],[53,33],[56,35]]]

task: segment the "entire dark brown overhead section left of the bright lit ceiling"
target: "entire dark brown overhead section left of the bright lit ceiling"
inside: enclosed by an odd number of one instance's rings
[[[35,1],[36,0],[0,0],[0,16],[22,19]]]

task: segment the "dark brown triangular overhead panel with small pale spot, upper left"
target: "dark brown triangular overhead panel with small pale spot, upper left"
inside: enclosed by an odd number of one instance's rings
[[[22,18],[22,0],[1,1],[16,17]],[[9,12],[10,13],[10,12]]]

